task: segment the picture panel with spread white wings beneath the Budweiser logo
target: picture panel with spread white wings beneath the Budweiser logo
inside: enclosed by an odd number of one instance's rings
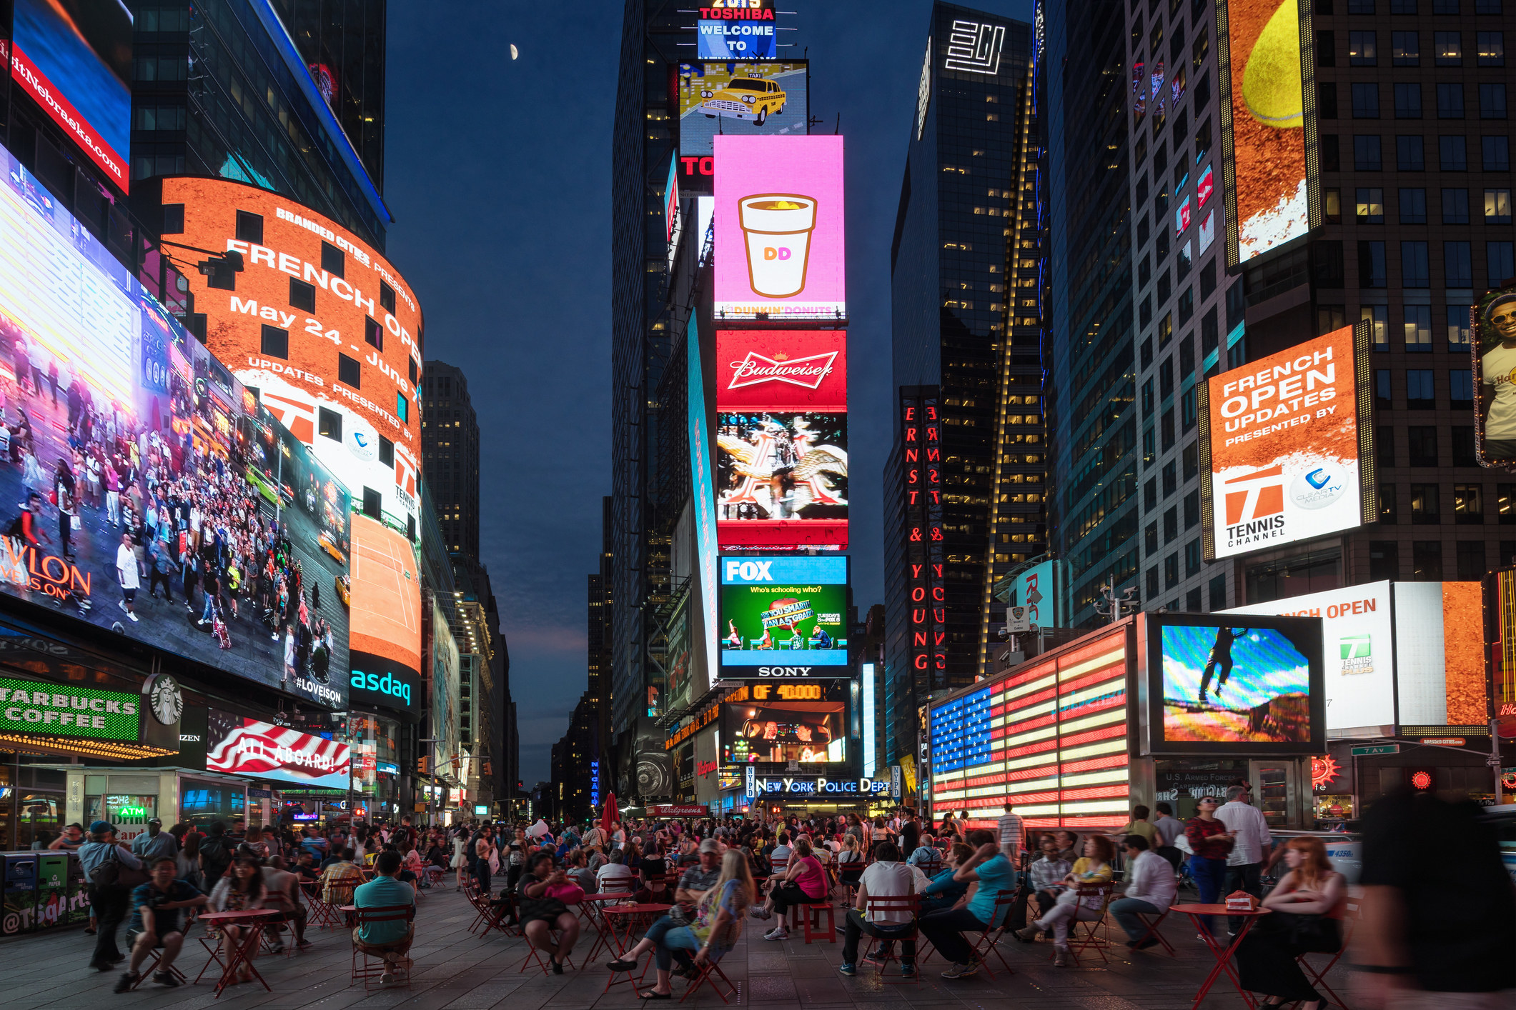
[[[846,519],[846,413],[719,413],[717,519]]]

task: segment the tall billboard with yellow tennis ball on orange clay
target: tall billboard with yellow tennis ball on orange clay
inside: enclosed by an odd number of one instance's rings
[[[1296,0],[1219,0],[1226,263],[1236,267],[1310,229],[1307,118]],[[1307,18],[1304,29],[1308,30]]]

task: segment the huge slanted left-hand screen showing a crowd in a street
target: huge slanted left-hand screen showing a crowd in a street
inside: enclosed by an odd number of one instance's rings
[[[0,592],[344,707],[347,489],[0,167]]]

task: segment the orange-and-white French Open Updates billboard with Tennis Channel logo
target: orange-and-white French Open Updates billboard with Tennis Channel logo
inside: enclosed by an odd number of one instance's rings
[[[1375,519],[1367,344],[1369,326],[1360,323],[1207,380],[1199,404],[1207,559]]]

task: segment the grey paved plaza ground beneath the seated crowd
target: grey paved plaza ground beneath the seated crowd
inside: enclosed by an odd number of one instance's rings
[[[838,916],[838,921],[841,916]],[[464,896],[449,890],[429,890],[417,910],[418,942],[411,948],[415,980],[411,989],[374,990],[365,993],[361,984],[349,984],[350,934],[346,931],[312,930],[309,951],[290,957],[258,959],[258,971],[273,992],[256,983],[232,986],[215,999],[214,980],[206,972],[199,986],[164,989],[152,980],[132,993],[115,996],[111,987],[117,972],[94,972],[86,968],[94,945],[92,936],[80,930],[53,934],[32,934],[0,942],[3,996],[0,1002],[27,1010],[76,1010],[80,1005],[109,1005],[130,1010],[191,1010],[199,1007],[268,1007],[270,1010],[343,1010],[344,1007],[418,1007],[421,1010],[538,1010],[540,1007],[637,1007],[643,1005],[628,986],[602,993],[608,972],[605,955],[594,965],[584,965],[582,955],[594,943],[594,934],[581,936],[575,954],[576,968],[564,975],[543,975],[535,968],[517,971],[526,955],[525,940],[499,933],[478,937],[468,934],[473,909]],[[1178,959],[1158,949],[1132,954],[1125,946],[1108,951],[1102,965],[1099,955],[1088,955],[1082,968],[1054,968],[1052,946],[1025,945],[1008,940],[1005,957],[1014,975],[999,971],[990,978],[979,972],[972,978],[949,981],[940,977],[944,965],[932,957],[922,972],[922,984],[881,984],[873,966],[860,965],[855,978],[837,974],[841,962],[841,936],[837,943],[805,945],[803,939],[766,942],[763,927],[749,921],[738,946],[722,960],[722,969],[738,986],[732,1005],[807,1007],[808,1010],[854,1010],[888,1004],[899,1010],[1189,1010],[1195,992],[1214,963],[1195,939],[1170,918],[1164,931],[1178,948]],[[1119,931],[1117,931],[1119,933]],[[205,963],[205,951],[191,934],[180,968],[193,980]],[[799,933],[791,934],[799,936]],[[649,983],[652,972],[647,974]],[[1337,993],[1352,1005],[1351,980],[1336,969],[1328,978]],[[675,1001],[685,983],[675,980]],[[664,1004],[655,1004],[664,1005]],[[699,996],[684,1005],[720,1007],[720,998],[702,987]],[[1237,1010],[1243,1001],[1226,983],[1217,981],[1204,1007]]]

